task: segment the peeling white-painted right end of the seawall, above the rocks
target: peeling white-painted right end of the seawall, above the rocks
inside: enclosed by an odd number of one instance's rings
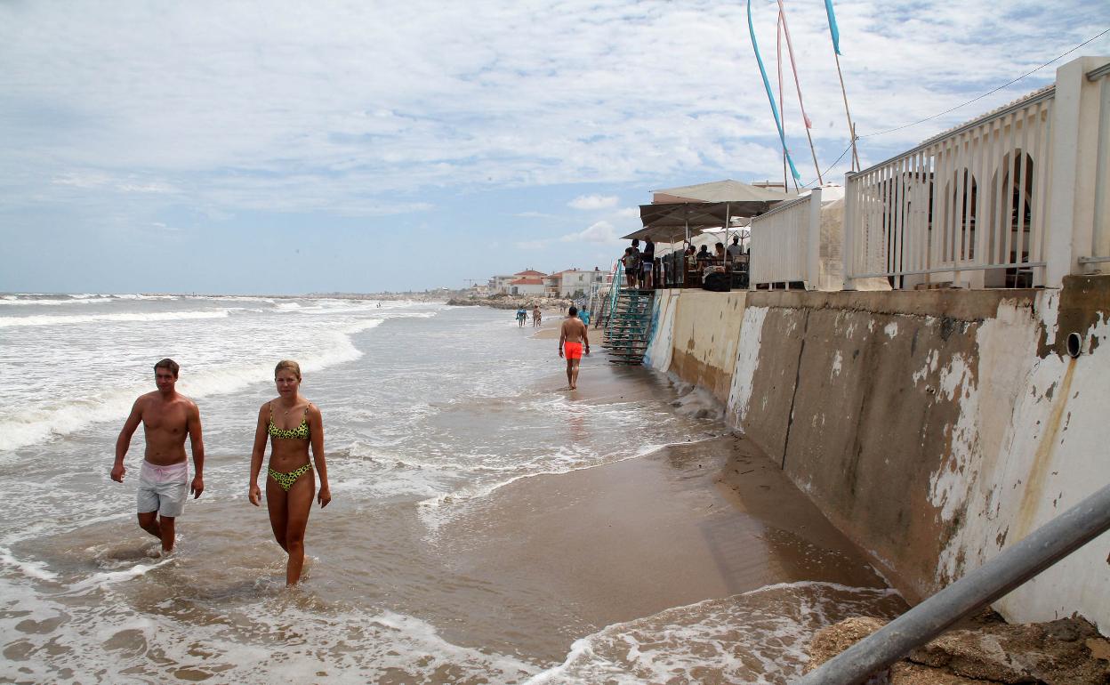
[[[967,573],[1110,482],[1110,349],[1079,359],[1037,356],[1042,326],[1056,331],[1059,291],[1039,293],[1035,313],[1003,302],[977,333],[978,380],[949,362],[960,400],[948,466],[932,475],[931,502],[950,520],[966,506],[939,574]],[[1083,331],[1110,336],[1110,322]],[[1110,534],[1104,534],[996,608],[1010,621],[1051,621],[1073,612],[1110,632]]]

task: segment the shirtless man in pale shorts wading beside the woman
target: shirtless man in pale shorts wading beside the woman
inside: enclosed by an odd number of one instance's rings
[[[185,459],[185,434],[193,451],[196,471],[192,485],[193,498],[204,492],[204,441],[201,439],[201,414],[196,404],[178,394],[178,363],[164,359],[154,364],[158,390],[140,395],[131,407],[115,441],[115,465],[112,480],[123,482],[123,457],[131,446],[139,422],[143,424],[147,454],[139,472],[139,527],[162,541],[162,553],[173,550],[174,520],[185,508],[189,462]]]

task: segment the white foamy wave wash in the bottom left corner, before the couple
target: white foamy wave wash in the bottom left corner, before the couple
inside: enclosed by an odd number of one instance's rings
[[[231,611],[201,611],[210,617],[196,621],[175,612],[133,610],[128,602],[109,600],[117,591],[107,584],[108,578],[100,578],[78,588],[105,601],[74,606],[0,578],[0,634],[8,636],[0,646],[18,642],[28,655],[18,662],[0,659],[0,679],[56,682],[68,671],[72,679],[113,683],[170,682],[189,674],[189,679],[220,683],[511,685],[542,668],[509,654],[454,644],[414,616],[324,605],[284,587],[262,588],[259,597]],[[54,627],[16,629],[27,621]],[[58,644],[64,648],[54,648]]]

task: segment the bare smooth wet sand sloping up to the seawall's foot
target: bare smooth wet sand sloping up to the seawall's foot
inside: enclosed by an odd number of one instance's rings
[[[666,390],[658,374],[613,367],[604,355],[592,366],[572,392],[587,406]],[[461,575],[495,577],[508,594],[554,603],[523,622],[546,638],[519,635],[513,647],[558,659],[573,639],[606,625],[776,583],[885,587],[753,443],[705,425],[688,444],[517,481],[440,531],[454,541]],[[444,636],[466,644],[466,632]],[[552,644],[555,635],[566,642]]]

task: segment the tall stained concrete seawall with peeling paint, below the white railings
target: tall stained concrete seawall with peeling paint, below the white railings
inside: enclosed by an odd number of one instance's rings
[[[1069,333],[1082,353],[1066,353]],[[1110,276],[1062,290],[662,291],[647,363],[717,396],[911,601],[1110,481]],[[1110,631],[1110,535],[996,604]]]

